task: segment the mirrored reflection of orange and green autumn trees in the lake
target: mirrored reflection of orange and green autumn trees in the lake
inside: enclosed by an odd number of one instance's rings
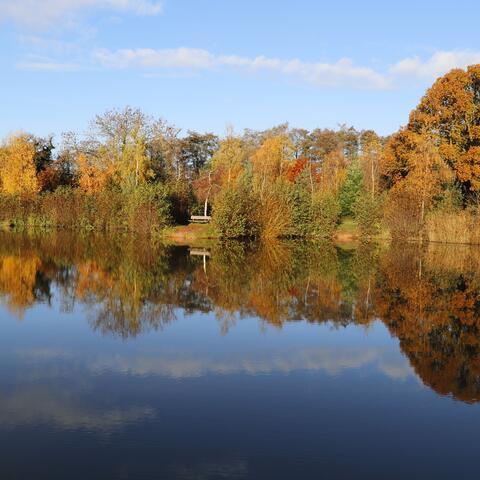
[[[122,338],[159,329],[178,312],[213,313],[221,332],[254,316],[342,327],[380,319],[423,382],[480,399],[477,247],[297,241],[205,247],[133,237],[0,234],[0,295],[19,319],[56,297],[94,330]]]

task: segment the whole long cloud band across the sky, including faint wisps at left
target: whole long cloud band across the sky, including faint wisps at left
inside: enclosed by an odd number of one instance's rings
[[[33,44],[42,45],[41,37],[40,40],[37,37],[32,38],[35,40]],[[62,44],[54,45],[58,51],[61,50]],[[73,53],[73,47],[68,48],[72,49]],[[64,50],[67,52],[67,47],[64,47]],[[67,56],[68,54],[60,54],[63,58]],[[386,90],[401,88],[408,81],[424,85],[452,68],[465,68],[480,63],[480,52],[438,51],[424,59],[419,56],[407,57],[383,69],[357,65],[348,58],[331,63],[307,62],[298,58],[216,54],[205,49],[188,47],[95,49],[90,53],[87,51],[78,53],[76,57],[71,58],[73,60],[70,61],[68,59],[56,61],[50,58],[45,61],[24,61],[18,63],[17,68],[49,72],[82,69],[137,70],[144,77],[159,78],[184,78],[205,71],[236,70],[249,74],[270,73],[276,77],[289,78],[295,82],[322,88]]]

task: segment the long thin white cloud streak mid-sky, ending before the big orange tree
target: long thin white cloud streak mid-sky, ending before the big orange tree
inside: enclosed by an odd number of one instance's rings
[[[385,75],[368,67],[356,66],[349,59],[340,59],[335,63],[316,63],[265,56],[250,58],[236,55],[215,55],[207,50],[185,47],[160,50],[140,48],[110,51],[101,49],[94,52],[94,59],[106,68],[211,70],[223,67],[250,72],[280,73],[317,86],[376,89],[389,86],[389,80]]]

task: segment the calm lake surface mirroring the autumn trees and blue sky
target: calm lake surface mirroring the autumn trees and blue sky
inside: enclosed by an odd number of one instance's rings
[[[477,478],[479,254],[0,234],[1,478]]]

